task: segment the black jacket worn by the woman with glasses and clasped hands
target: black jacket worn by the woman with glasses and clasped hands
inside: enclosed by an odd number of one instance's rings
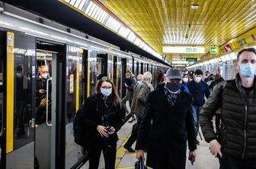
[[[85,113],[85,146],[103,146],[116,145],[117,144],[117,131],[122,127],[122,112],[121,107],[118,105],[115,107],[111,104],[109,107],[109,117],[107,118],[107,126],[114,127],[116,132],[106,138],[101,137],[98,133],[98,125],[103,125],[101,119],[107,112],[106,105],[104,103],[103,95],[101,93],[91,95],[82,107],[82,111]],[[106,127],[107,127],[106,126]]]

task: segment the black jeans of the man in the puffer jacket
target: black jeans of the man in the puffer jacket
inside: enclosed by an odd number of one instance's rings
[[[256,160],[240,160],[231,155],[222,152],[222,158],[219,158],[219,169],[256,169]]]

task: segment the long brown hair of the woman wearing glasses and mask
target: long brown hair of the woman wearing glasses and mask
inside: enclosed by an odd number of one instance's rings
[[[113,105],[114,106],[118,106],[120,105],[120,99],[117,95],[117,92],[116,92],[116,88],[114,86],[114,83],[112,83],[112,81],[110,79],[108,79],[107,77],[101,77],[101,79],[98,81],[98,84],[97,84],[97,87],[96,87],[96,92],[100,92],[101,91],[101,84],[104,83],[104,82],[108,82],[111,84],[112,86],[112,94],[110,95],[112,101],[113,101]]]

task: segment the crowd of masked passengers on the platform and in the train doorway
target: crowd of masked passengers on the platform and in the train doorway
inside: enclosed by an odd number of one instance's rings
[[[150,72],[135,78],[127,71],[126,96],[122,101],[114,83],[101,77],[96,92],[82,106],[89,168],[98,168],[101,152],[105,168],[115,168],[117,131],[123,125],[124,114],[133,114],[130,122],[135,120],[135,124],[123,148],[136,152],[141,161],[145,161],[147,152],[148,167],[182,169],[186,167],[186,158],[193,164],[201,127],[204,139],[210,142],[210,153],[219,158],[219,168],[256,168],[255,61],[255,49],[238,52],[235,65],[238,74],[233,80],[224,80],[220,74],[209,71],[203,74],[200,69],[171,68],[165,73],[159,70],[156,89],[151,84]],[[40,67],[37,115],[43,114],[46,107],[43,95],[47,78],[48,70]],[[42,121],[38,117],[37,124],[43,123],[43,119],[44,116]],[[134,142],[136,150],[132,148]]]

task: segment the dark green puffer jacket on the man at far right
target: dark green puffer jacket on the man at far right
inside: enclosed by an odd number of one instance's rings
[[[222,92],[219,92],[220,86],[225,86]],[[239,74],[235,80],[223,81],[213,89],[199,118],[206,142],[217,139],[211,120],[218,108],[222,108],[224,124],[220,129],[223,152],[240,159],[256,159],[256,77],[254,89],[248,96]]]

